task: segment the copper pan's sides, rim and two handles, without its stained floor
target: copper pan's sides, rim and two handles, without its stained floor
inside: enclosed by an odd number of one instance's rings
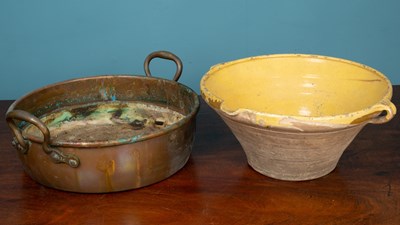
[[[173,80],[151,77],[149,64],[153,58],[175,62],[177,71]],[[182,62],[174,54],[153,52],[145,59],[144,67],[146,76],[73,79],[45,86],[16,100],[9,107],[6,120],[26,173],[40,184],[55,189],[106,193],[147,186],[181,169],[194,141],[198,95],[177,82]],[[134,136],[118,137],[119,132],[113,132],[109,138],[104,139],[103,135],[103,139],[90,141],[57,140],[52,137],[48,124],[40,119],[62,108],[92,104],[74,111],[80,117],[89,116],[95,111],[93,104],[104,102],[142,102],[173,109],[183,118],[147,133],[140,133],[144,125],[134,120],[130,123],[136,132]],[[121,113],[114,112],[115,115]],[[155,123],[163,121],[155,120]],[[23,132],[28,126],[36,127],[40,135]],[[102,136],[107,130],[104,127],[83,130],[80,135],[89,137],[93,132],[94,136]]]

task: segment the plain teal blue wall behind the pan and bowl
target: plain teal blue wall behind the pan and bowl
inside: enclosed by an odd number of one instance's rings
[[[199,91],[211,65],[272,53],[347,58],[400,84],[398,0],[0,0],[0,99],[66,79],[143,74],[155,50],[181,57]],[[153,74],[174,65],[154,60]]]

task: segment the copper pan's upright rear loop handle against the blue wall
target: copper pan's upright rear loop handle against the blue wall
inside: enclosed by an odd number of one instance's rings
[[[144,72],[146,73],[146,76],[151,77],[149,67],[150,67],[150,61],[154,58],[162,58],[162,59],[174,61],[176,64],[176,72],[175,72],[173,80],[174,81],[179,80],[179,78],[181,77],[181,74],[182,74],[182,70],[183,70],[182,61],[179,59],[178,56],[174,55],[171,52],[167,52],[167,51],[152,52],[152,53],[150,53],[150,55],[148,55],[146,57],[146,59],[144,60]]]

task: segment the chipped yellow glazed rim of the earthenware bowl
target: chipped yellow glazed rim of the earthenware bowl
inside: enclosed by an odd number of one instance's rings
[[[377,101],[375,104],[371,105],[370,107],[367,108],[363,108],[354,112],[350,112],[350,113],[344,113],[344,114],[335,114],[335,115],[328,115],[328,116],[318,116],[318,117],[313,117],[313,116],[301,116],[301,115],[284,115],[284,114],[276,114],[276,113],[268,113],[268,112],[259,112],[259,111],[255,111],[252,109],[248,109],[248,108],[238,108],[235,111],[228,111],[226,109],[224,109],[224,100],[221,99],[218,96],[215,96],[210,90],[208,90],[207,86],[206,86],[206,81],[209,77],[213,76],[213,74],[219,70],[222,70],[226,67],[230,67],[232,65],[235,64],[240,64],[240,63],[245,63],[247,61],[252,61],[252,60],[262,60],[262,59],[274,59],[274,58],[303,58],[303,59],[322,59],[322,60],[327,60],[327,61],[335,61],[335,62],[339,62],[339,63],[344,63],[344,64],[350,64],[352,66],[356,66],[359,67],[361,69],[364,70],[368,70],[370,72],[372,72],[373,74],[379,76],[384,82],[386,82],[387,84],[387,90],[385,95],[383,96],[383,98],[379,101]],[[396,108],[393,105],[393,103],[390,102],[390,99],[392,98],[392,85],[390,80],[381,72],[379,72],[378,70],[369,67],[367,65],[358,63],[358,62],[354,62],[348,59],[343,59],[343,58],[337,58],[337,57],[331,57],[331,56],[323,56],[323,55],[315,55],[315,54],[270,54],[270,55],[260,55],[260,56],[253,56],[253,57],[247,57],[247,58],[242,58],[242,59],[237,59],[237,60],[233,60],[233,61],[229,61],[229,62],[224,62],[224,63],[219,63],[216,64],[214,66],[212,66],[209,71],[202,77],[201,81],[200,81],[200,91],[201,91],[201,96],[202,98],[206,101],[206,103],[208,105],[210,105],[212,108],[220,111],[221,113],[225,114],[226,116],[234,119],[234,120],[239,120],[248,124],[256,124],[257,126],[261,126],[261,127],[270,127],[268,124],[259,124],[256,121],[251,121],[250,119],[248,119],[249,115],[253,115],[255,117],[263,117],[263,118],[269,118],[269,119],[273,119],[273,120],[282,120],[285,119],[286,121],[297,121],[300,123],[305,123],[305,124],[311,124],[311,125],[317,125],[317,126],[327,126],[327,127],[332,127],[334,129],[336,128],[343,128],[343,127],[349,127],[349,126],[353,126],[355,124],[346,122],[346,123],[342,123],[340,121],[343,121],[343,118],[353,118],[353,120],[349,120],[347,119],[347,121],[357,121],[358,118],[363,117],[363,116],[368,116],[368,115],[372,115],[372,116],[377,116],[378,114],[380,114],[380,112],[384,111],[384,110],[378,110],[381,109],[382,105],[389,105],[386,109],[387,111],[389,109],[391,109],[391,113],[393,115],[391,115],[391,118],[394,116],[394,114],[396,113]],[[376,111],[374,111],[376,109]],[[245,114],[244,117],[247,117],[245,119],[237,119],[238,117],[243,116],[243,114]],[[341,120],[342,118],[342,120]],[[391,118],[389,118],[388,120],[390,120]],[[335,122],[335,120],[338,120],[339,122]],[[264,121],[265,122],[265,121]],[[363,123],[365,121],[359,121],[357,122],[357,124],[359,123]],[[276,126],[276,127],[280,127],[280,126]],[[293,128],[291,125],[287,126],[287,125],[283,125],[283,128]],[[297,128],[294,128],[297,129]]]

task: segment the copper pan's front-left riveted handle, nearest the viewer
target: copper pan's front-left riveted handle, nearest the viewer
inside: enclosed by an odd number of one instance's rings
[[[25,121],[36,126],[43,134],[43,151],[50,156],[55,163],[66,163],[71,167],[79,166],[79,158],[73,154],[66,154],[57,148],[50,146],[50,131],[47,126],[36,116],[24,110],[12,110],[7,113],[6,121],[14,134],[13,145],[23,154],[27,154],[31,145],[30,140],[23,137],[21,130],[18,128],[15,120]]]

